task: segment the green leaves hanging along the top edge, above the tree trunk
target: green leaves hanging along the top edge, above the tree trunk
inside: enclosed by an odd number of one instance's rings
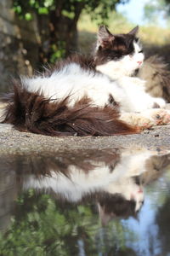
[[[127,3],[128,0],[13,0],[14,11],[22,18],[26,18],[26,14],[36,12],[39,15],[48,15],[54,9],[62,9],[63,15],[69,15],[74,18],[77,6],[82,4],[87,13],[91,13],[94,18],[96,16],[102,19],[108,18],[109,12],[115,9],[116,3]],[[94,12],[96,10],[96,12]]]

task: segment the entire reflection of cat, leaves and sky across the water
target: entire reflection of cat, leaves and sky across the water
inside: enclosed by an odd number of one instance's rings
[[[163,215],[166,207],[152,209],[156,196],[150,199],[152,190],[147,188],[162,183],[169,163],[168,154],[148,150],[3,158],[0,228],[5,230],[9,212],[14,218],[0,238],[0,249],[4,255],[11,247],[14,255],[167,253],[159,228],[163,226],[159,211]],[[147,245],[144,236],[150,239]]]

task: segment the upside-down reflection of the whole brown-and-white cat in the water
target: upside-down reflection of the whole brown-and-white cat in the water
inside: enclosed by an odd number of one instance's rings
[[[148,150],[103,150],[13,160],[18,188],[36,189],[72,204],[96,203],[102,224],[136,216],[144,202],[144,183],[160,175],[169,155]],[[149,173],[149,174],[148,174]]]

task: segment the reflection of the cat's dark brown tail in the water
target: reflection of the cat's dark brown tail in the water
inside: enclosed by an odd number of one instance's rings
[[[0,159],[2,161],[2,159]],[[118,150],[79,150],[76,152],[65,152],[58,154],[43,155],[19,155],[16,156],[8,169],[13,169],[18,176],[31,175],[41,179],[42,176],[53,177],[62,173],[71,179],[70,167],[75,166],[81,172],[91,172],[96,168],[96,163],[103,163],[111,168],[114,172],[116,165],[120,162],[120,154]],[[6,164],[7,165],[7,164]],[[97,164],[98,166],[99,164]],[[11,168],[12,167],[12,168]],[[53,172],[51,172],[53,170]]]

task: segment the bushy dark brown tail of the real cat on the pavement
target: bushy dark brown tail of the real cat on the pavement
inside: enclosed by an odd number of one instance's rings
[[[87,99],[68,108],[68,101],[69,96],[54,101],[14,85],[14,91],[6,97],[3,123],[12,124],[19,131],[49,136],[109,136],[139,132],[138,127],[119,120],[116,109],[93,107]]]

